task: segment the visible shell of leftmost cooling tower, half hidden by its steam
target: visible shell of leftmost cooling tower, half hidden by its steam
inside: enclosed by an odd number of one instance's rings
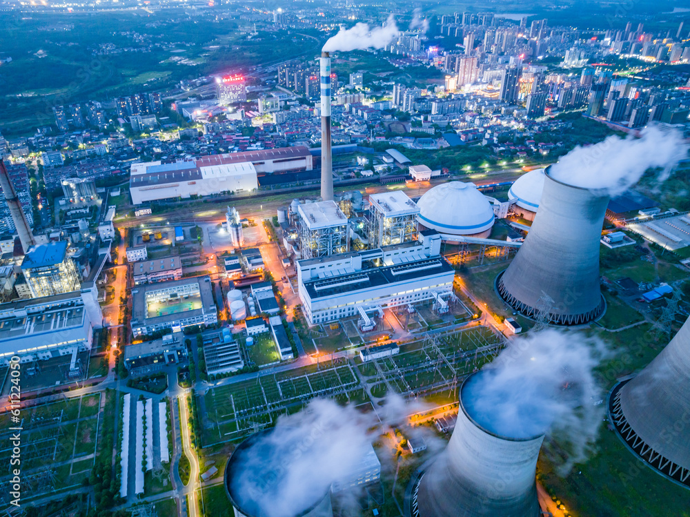
[[[235,517],[269,517],[265,511],[262,511],[259,500],[262,503],[273,501],[278,511],[270,514],[272,516],[333,517],[330,490],[326,491],[326,494],[309,494],[313,495],[310,503],[295,514],[287,514],[281,508],[276,485],[281,482],[281,476],[284,475],[284,463],[293,459],[295,449],[284,447],[284,450],[273,451],[273,456],[277,457],[264,458],[263,456],[270,453],[263,451],[260,446],[253,446],[262,437],[272,432],[279,432],[279,430],[273,429],[253,434],[237,446],[228,460],[225,469],[225,489],[230,503],[233,504]],[[263,462],[265,459],[270,460],[270,467],[266,469],[253,469],[250,465],[253,461]]]

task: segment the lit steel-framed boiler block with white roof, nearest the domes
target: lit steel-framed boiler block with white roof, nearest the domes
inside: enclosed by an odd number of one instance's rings
[[[372,194],[366,217],[369,246],[380,248],[417,240],[420,209],[405,193]]]

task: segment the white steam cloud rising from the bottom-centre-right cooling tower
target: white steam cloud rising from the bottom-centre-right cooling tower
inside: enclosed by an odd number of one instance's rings
[[[594,369],[608,355],[600,340],[546,329],[514,340],[462,391],[468,413],[507,438],[549,434],[566,449],[568,471],[586,458],[604,417]]]

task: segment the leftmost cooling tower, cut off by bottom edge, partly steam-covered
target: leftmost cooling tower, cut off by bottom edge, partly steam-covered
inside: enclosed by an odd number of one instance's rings
[[[286,465],[293,460],[298,447],[304,446],[308,436],[297,443],[293,433],[288,442],[281,436],[284,428],[277,427],[253,434],[233,451],[225,469],[225,489],[235,509],[235,517],[333,517],[330,487],[324,491],[304,490],[298,496],[285,482]],[[286,510],[286,501],[293,508]],[[297,503],[299,501],[299,503]],[[300,504],[301,503],[301,504]],[[270,512],[266,505],[277,505],[280,511]]]

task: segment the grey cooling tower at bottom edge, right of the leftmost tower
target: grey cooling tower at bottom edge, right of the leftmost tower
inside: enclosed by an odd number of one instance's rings
[[[475,374],[476,375],[476,374]],[[413,486],[411,517],[538,517],[535,482],[544,436],[511,438],[471,416],[468,381],[448,447]]]

